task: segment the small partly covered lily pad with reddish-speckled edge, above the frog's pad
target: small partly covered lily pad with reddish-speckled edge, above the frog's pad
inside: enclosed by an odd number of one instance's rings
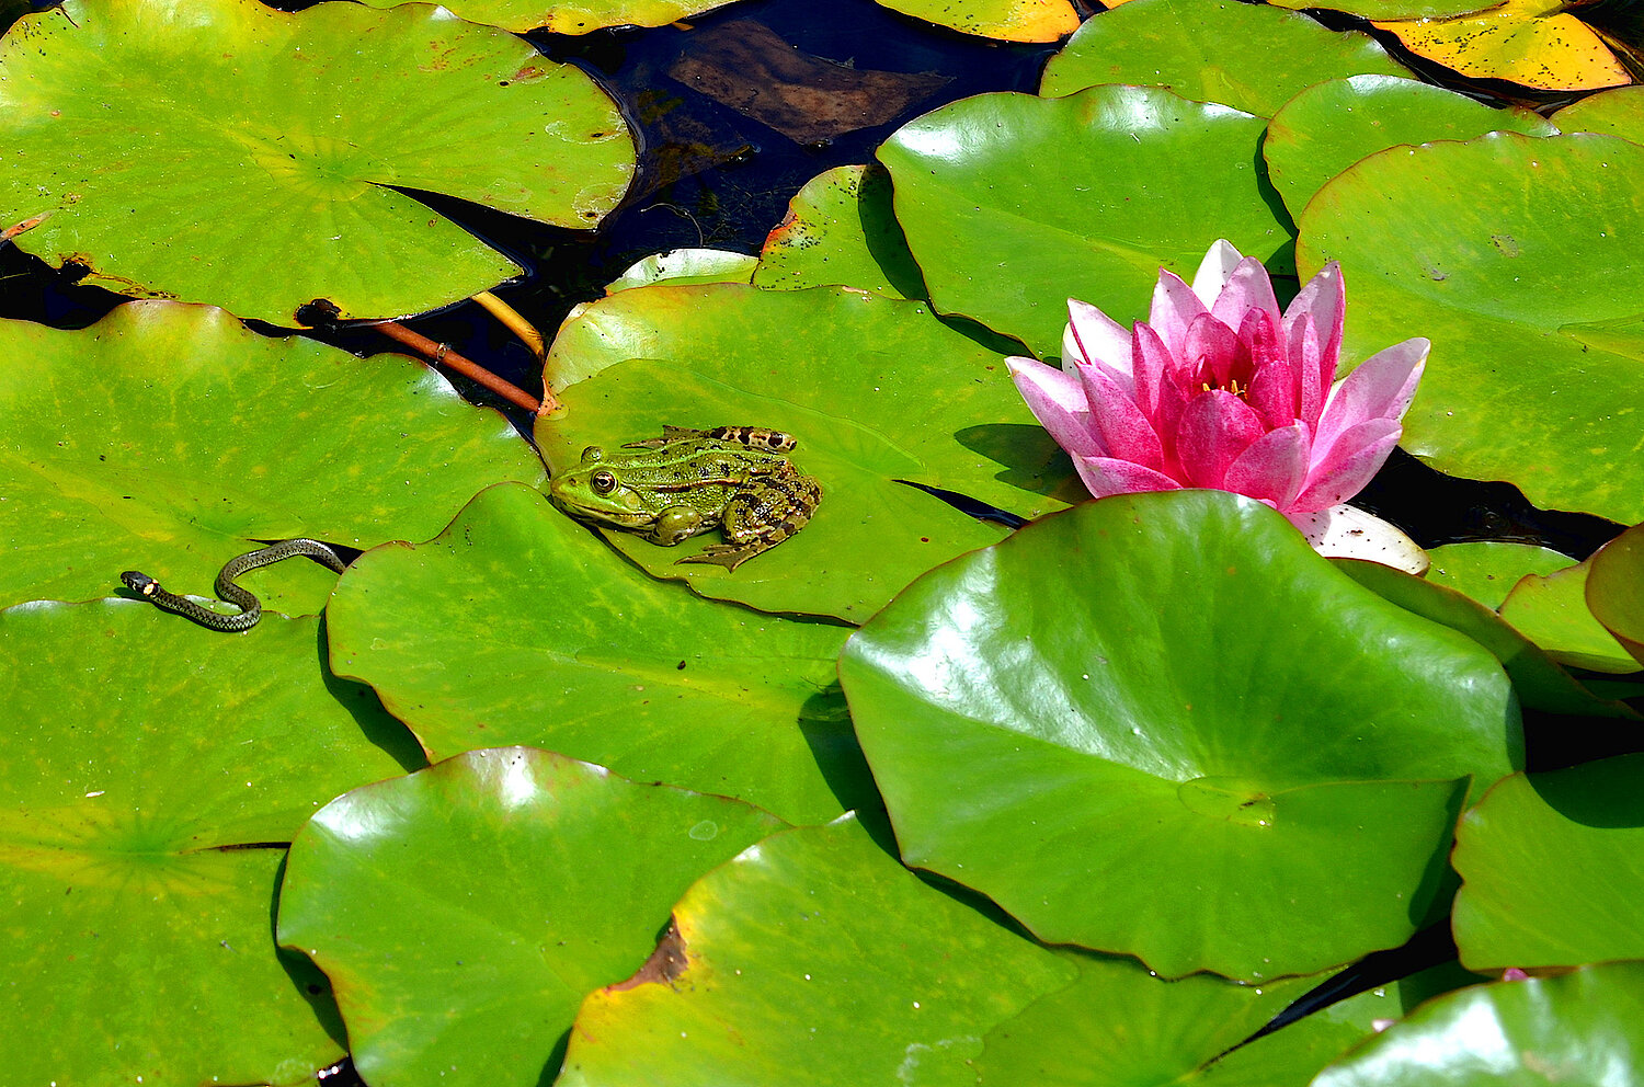
[[[764,240],[753,284],[778,291],[838,284],[926,298],[884,168],[835,166],[807,181]]]

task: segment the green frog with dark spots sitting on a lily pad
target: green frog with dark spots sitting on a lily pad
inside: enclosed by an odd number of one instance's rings
[[[723,526],[725,543],[679,561],[733,571],[804,528],[822,502],[822,485],[787,459],[796,446],[758,426],[664,426],[661,437],[623,446],[638,452],[589,446],[582,464],[549,482],[549,498],[579,521],[664,548]]]

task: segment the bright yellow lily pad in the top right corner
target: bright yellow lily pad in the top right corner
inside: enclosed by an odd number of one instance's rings
[[[1473,79],[1537,90],[1591,90],[1632,82],[1603,35],[1570,13],[1583,0],[1499,0],[1457,18],[1376,21],[1429,61]]]

